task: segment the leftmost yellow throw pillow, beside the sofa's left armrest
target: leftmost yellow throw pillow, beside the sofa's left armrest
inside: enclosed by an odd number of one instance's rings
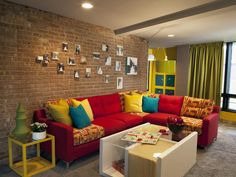
[[[69,105],[66,100],[60,100],[58,104],[49,104],[48,106],[53,120],[66,125],[72,125],[72,120],[69,115]]]

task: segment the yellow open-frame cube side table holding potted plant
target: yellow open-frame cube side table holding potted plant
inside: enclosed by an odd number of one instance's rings
[[[51,141],[51,157],[52,161],[40,156],[40,143]],[[12,145],[16,144],[22,148],[22,161],[13,162]],[[27,147],[36,145],[37,156],[27,159]],[[32,138],[17,139],[15,137],[8,137],[8,151],[9,151],[9,167],[17,174],[23,177],[32,176],[40,172],[46,171],[55,167],[55,138],[54,136],[47,134],[47,137],[42,140],[32,140]]]

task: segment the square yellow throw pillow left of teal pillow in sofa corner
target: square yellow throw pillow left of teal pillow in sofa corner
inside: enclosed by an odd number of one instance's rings
[[[125,112],[143,112],[142,99],[140,94],[125,95]]]

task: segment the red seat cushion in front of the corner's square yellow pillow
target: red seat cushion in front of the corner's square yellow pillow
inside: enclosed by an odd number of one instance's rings
[[[108,121],[110,121],[110,119],[122,121],[125,124],[126,128],[134,127],[143,122],[143,118],[141,116],[130,114],[127,112],[112,114],[104,118],[106,118]]]

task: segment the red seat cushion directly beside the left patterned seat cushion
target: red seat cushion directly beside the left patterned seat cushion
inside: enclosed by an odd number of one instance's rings
[[[107,119],[106,117],[94,119],[92,123],[102,126],[105,129],[106,136],[126,129],[124,122],[115,119]]]

